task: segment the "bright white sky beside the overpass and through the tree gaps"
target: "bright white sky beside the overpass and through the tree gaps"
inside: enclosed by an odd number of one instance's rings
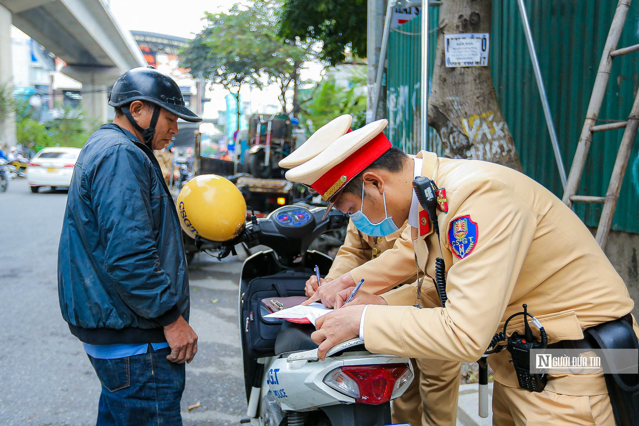
[[[236,0],[237,3],[248,3],[245,0]],[[125,30],[151,31],[153,33],[169,34],[185,38],[193,38],[203,29],[205,21],[201,20],[205,11],[212,13],[227,11],[236,3],[233,0],[105,0],[110,5],[111,13],[118,20],[119,25]],[[186,6],[188,4],[188,6]],[[307,72],[302,74],[304,79],[319,80],[321,78],[321,66],[310,66]],[[216,118],[219,110],[226,109],[224,96],[228,91],[224,87],[214,87],[206,93],[212,101],[204,106],[205,118]],[[261,110],[266,105],[280,105],[277,96],[277,86],[266,87],[259,91],[246,87],[242,90],[242,100],[251,102],[251,109]]]

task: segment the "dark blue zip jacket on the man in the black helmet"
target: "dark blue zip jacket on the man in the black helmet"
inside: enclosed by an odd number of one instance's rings
[[[173,198],[150,149],[104,125],[80,153],[58,250],[58,294],[90,344],[164,342],[189,320],[189,277]]]

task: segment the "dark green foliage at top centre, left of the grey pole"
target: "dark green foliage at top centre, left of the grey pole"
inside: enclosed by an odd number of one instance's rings
[[[366,0],[284,0],[279,35],[321,42],[330,65],[366,57],[366,8]]]

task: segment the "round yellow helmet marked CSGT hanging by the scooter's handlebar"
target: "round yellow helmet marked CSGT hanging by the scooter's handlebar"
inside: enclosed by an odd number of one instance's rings
[[[184,232],[212,241],[232,240],[242,232],[246,201],[242,192],[217,174],[201,174],[183,186],[178,215]]]

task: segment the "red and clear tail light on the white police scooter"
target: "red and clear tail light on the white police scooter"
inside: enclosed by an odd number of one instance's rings
[[[408,363],[349,365],[332,370],[324,383],[358,404],[378,405],[389,402],[412,378]]]

